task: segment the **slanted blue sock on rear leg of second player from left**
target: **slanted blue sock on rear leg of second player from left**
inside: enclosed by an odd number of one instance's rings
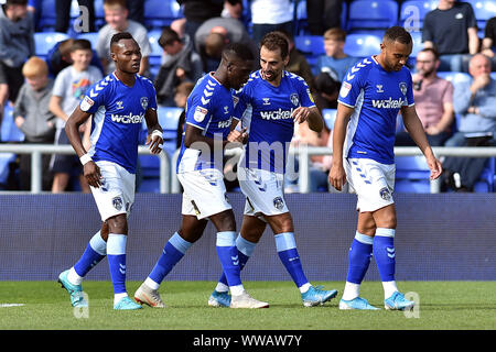
[[[162,255],[148,277],[160,285],[174,265],[181,261],[191,245],[191,242],[185,241],[177,232],[175,232],[171,239],[169,239],[168,243],[165,243]]]

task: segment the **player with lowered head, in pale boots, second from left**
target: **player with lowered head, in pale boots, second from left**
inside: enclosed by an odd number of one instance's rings
[[[236,249],[236,221],[226,198],[223,176],[224,147],[242,142],[246,133],[234,130],[234,99],[230,89],[247,80],[254,56],[241,44],[228,45],[215,73],[197,81],[187,99],[185,133],[177,160],[177,178],[183,193],[182,224],[163,249],[155,266],[134,294],[137,301],[163,308],[158,293],[163,278],[203,234],[208,219],[217,229],[217,254],[233,292],[231,308],[263,308],[251,298],[240,279]]]

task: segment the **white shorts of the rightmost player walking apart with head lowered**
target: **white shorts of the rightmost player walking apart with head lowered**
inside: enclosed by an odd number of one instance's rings
[[[375,211],[395,202],[395,164],[380,164],[370,158],[347,158],[344,167],[349,186],[358,196],[357,210]]]

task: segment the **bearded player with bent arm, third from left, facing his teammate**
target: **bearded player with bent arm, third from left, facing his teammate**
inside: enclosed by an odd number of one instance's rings
[[[322,290],[306,279],[282,187],[294,122],[308,121],[310,129],[320,132],[323,119],[304,79],[284,70],[288,62],[287,40],[278,33],[268,33],[260,44],[261,69],[251,74],[237,95],[239,102],[235,116],[242,116],[249,139],[238,164],[238,179],[246,206],[236,246],[242,268],[268,222],[274,233],[279,257],[300,289],[304,306],[310,307],[324,304],[337,292]],[[208,299],[209,306],[229,306],[231,296],[227,283],[224,272]]]

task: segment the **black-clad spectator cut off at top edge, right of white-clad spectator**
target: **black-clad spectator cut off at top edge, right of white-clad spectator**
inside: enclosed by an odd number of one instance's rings
[[[341,28],[342,0],[306,0],[306,19],[311,35],[322,35],[332,28]]]

